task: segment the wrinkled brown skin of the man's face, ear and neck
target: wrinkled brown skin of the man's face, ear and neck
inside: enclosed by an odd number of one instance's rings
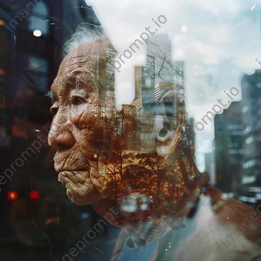
[[[133,117],[135,135],[125,144],[117,134],[116,129],[120,127],[115,117],[106,115],[106,120],[113,123],[107,125],[99,117],[101,108],[109,102],[102,84],[104,48],[110,48],[107,39],[81,45],[63,59],[51,86],[54,131],[48,143],[56,149],[55,170],[66,186],[68,197],[77,205],[92,204],[102,216],[110,212],[109,207],[114,207],[117,214],[112,224],[135,231],[148,244],[162,233],[166,227],[163,220],[168,218],[186,188],[182,174],[173,171],[174,167],[179,169],[177,164],[168,163],[165,168],[156,168],[157,172],[153,169],[156,174],[150,170],[159,160],[168,161],[177,147],[185,112],[175,111],[176,120],[170,119],[164,102],[179,97],[178,92],[170,91],[156,111],[137,112]],[[117,117],[123,119],[121,113]],[[105,157],[96,145],[100,138],[111,143],[111,152]],[[142,153],[124,154],[132,144]],[[140,167],[140,163],[144,166]],[[136,206],[135,211],[120,209],[117,200],[123,196]],[[148,235],[150,230],[152,235]]]

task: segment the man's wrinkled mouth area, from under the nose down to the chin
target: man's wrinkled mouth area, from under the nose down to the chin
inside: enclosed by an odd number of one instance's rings
[[[113,179],[99,169],[98,159],[87,158],[75,149],[58,152],[54,157],[58,181],[66,187],[68,197],[77,205],[88,205],[111,196]]]

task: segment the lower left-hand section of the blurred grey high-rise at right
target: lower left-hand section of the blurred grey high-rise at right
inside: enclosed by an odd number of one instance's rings
[[[240,183],[244,154],[248,153],[243,149],[241,110],[240,102],[232,102],[227,110],[214,118],[217,187],[223,192],[231,191],[233,180]]]

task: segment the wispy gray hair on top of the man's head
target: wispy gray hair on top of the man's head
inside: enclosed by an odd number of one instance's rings
[[[94,42],[105,37],[105,34],[102,26],[81,23],[68,35],[69,39],[63,44],[63,57],[82,44]]]

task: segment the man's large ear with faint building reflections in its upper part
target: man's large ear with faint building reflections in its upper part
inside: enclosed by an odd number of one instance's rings
[[[159,156],[170,155],[183,134],[185,126],[184,95],[178,91],[169,91],[159,101],[155,124],[159,124],[156,134],[156,152]]]

